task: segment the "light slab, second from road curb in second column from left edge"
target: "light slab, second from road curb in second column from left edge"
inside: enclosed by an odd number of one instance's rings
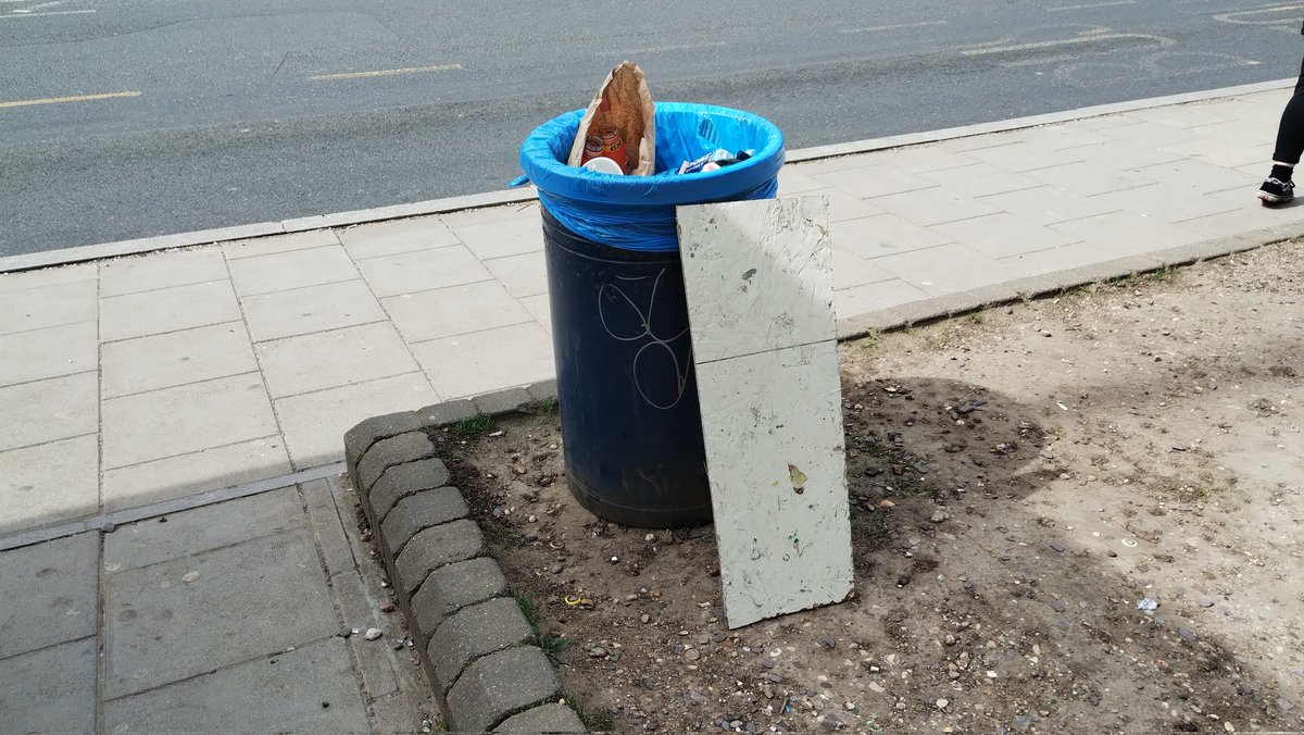
[[[240,319],[231,282],[209,281],[100,299],[99,338],[113,342]]]

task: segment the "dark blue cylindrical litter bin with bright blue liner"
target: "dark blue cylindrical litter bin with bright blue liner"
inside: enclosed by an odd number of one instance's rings
[[[566,479],[576,500],[627,526],[711,521],[674,208],[773,198],[782,133],[725,107],[659,103],[653,176],[566,164],[583,111],[520,149],[542,204]],[[716,149],[754,150],[717,171],[677,174]]]

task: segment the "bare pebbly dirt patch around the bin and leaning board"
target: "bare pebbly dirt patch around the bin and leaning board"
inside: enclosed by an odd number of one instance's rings
[[[1300,728],[1301,257],[842,345],[855,595],[738,631],[711,527],[583,510],[556,415],[439,436],[591,723]]]

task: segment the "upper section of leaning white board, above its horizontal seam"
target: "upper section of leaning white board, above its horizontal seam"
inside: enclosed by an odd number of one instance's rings
[[[699,362],[837,338],[825,197],[678,211]]]

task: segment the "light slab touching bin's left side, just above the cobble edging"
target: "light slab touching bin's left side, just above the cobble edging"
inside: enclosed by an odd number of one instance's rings
[[[460,398],[553,377],[553,339],[537,324],[518,324],[412,345],[439,396]]]

